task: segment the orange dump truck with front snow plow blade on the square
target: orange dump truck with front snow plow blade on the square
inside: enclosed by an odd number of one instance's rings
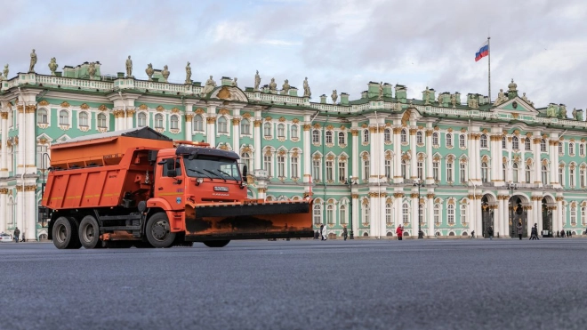
[[[149,127],[56,143],[42,200],[49,238],[64,249],[312,237],[312,201],[248,199],[238,158]]]

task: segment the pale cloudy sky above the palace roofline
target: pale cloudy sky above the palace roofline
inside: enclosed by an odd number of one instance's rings
[[[53,56],[116,74],[132,55],[139,79],[166,64],[181,83],[187,61],[195,81],[237,76],[241,87],[256,69],[261,85],[302,88],[308,76],[313,101],[334,89],[358,98],[369,81],[407,85],[409,98],[426,86],[487,94],[487,59],[474,57],[491,36],[494,100],[513,78],[536,107],[587,107],[584,0],[12,0],[1,10],[10,76],[35,48],[43,74]]]

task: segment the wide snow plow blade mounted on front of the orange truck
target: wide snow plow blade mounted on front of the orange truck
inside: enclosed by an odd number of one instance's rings
[[[186,241],[314,237],[312,201],[186,205]]]

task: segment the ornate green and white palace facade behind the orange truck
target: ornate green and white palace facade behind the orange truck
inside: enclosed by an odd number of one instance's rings
[[[51,145],[150,126],[207,141],[248,165],[249,196],[311,195],[331,236],[511,237],[521,221],[582,234],[587,223],[587,123],[562,104],[535,108],[512,81],[495,101],[368,83],[359,98],[310,99],[294,87],[101,76],[100,64],[4,77],[0,88],[0,231],[46,237],[38,213]],[[97,71],[96,71],[97,66]],[[269,79],[266,79],[269,80]],[[507,83],[507,82],[506,82]],[[302,91],[301,91],[302,92]],[[302,93],[300,93],[302,94]],[[334,99],[334,102],[333,102]],[[339,100],[340,99],[340,100]],[[421,183],[420,185],[415,183]]]

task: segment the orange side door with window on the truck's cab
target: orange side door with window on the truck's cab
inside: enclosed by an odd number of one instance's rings
[[[183,171],[179,157],[165,158],[157,163],[157,180],[155,181],[155,197],[165,199],[173,210],[184,207]]]

